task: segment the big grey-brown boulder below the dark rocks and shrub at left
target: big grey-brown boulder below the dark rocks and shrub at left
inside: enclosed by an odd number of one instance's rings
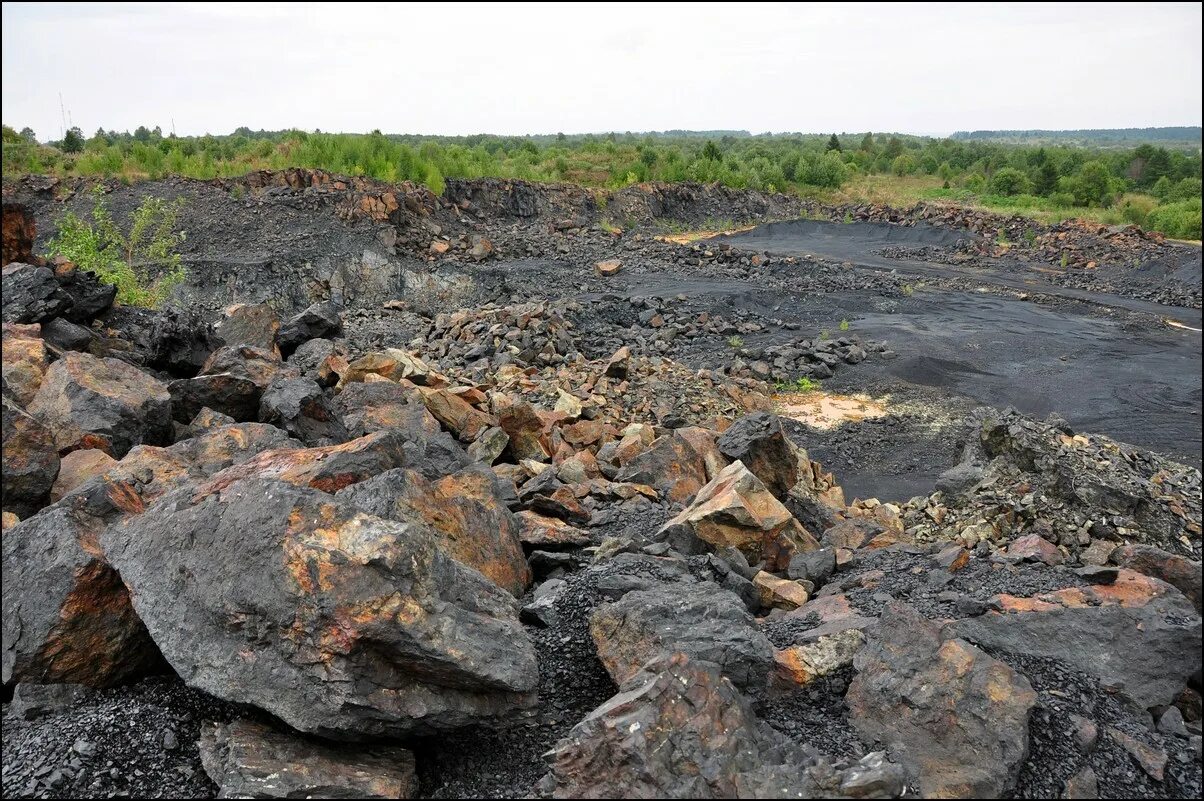
[[[171,440],[171,394],[119,359],[65,353],[51,365],[29,413],[54,434],[60,452],[100,448],[114,459],[136,444]]]

